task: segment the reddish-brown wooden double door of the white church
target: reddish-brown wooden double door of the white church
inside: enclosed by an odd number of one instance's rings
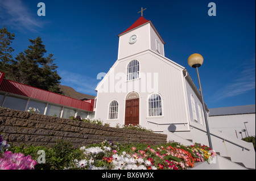
[[[125,104],[125,125],[139,124],[139,98],[126,100]]]

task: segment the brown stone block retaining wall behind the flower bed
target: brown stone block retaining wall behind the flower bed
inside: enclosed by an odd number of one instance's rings
[[[105,127],[6,108],[0,108],[0,134],[13,145],[51,146],[57,140],[68,140],[76,148],[104,140],[126,144],[142,140],[155,144],[167,141],[166,134]]]

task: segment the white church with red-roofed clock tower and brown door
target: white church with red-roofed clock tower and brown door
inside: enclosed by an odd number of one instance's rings
[[[118,37],[118,60],[96,88],[96,119],[154,131],[204,124],[199,92],[185,68],[164,57],[165,43],[152,22],[141,16]]]

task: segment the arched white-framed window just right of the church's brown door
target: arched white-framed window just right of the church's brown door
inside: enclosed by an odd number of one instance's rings
[[[162,99],[159,94],[152,94],[148,98],[148,116],[162,116]]]

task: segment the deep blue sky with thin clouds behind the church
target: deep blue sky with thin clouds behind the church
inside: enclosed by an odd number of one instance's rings
[[[46,16],[38,16],[39,2]],[[209,2],[216,3],[216,16],[208,15]],[[255,104],[254,0],[0,0],[0,26],[15,33],[14,57],[40,36],[56,58],[61,85],[96,95],[97,74],[117,60],[117,35],[140,17],[141,7],[166,43],[165,56],[187,68],[197,87],[187,58],[204,57],[199,73],[208,108]]]

